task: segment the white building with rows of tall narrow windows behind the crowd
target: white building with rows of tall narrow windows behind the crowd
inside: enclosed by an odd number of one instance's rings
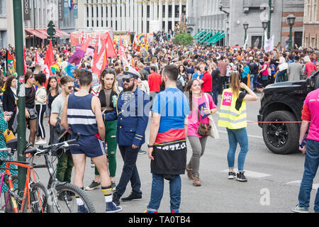
[[[186,8],[186,0],[79,0],[79,30],[174,31]]]

